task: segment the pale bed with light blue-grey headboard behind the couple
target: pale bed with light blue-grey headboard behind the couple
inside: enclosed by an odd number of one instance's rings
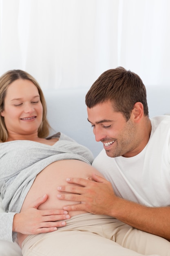
[[[170,89],[150,86],[147,99],[150,117],[170,115]],[[96,142],[91,124],[87,121],[85,105],[86,89],[46,90],[47,117],[51,127],[61,131],[91,149],[94,157],[102,150]],[[52,132],[53,133],[53,132]],[[0,198],[0,212],[3,211]],[[0,240],[0,256],[22,256],[18,244]]]

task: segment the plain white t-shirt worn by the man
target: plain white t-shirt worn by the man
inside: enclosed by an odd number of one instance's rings
[[[154,117],[148,144],[134,157],[108,157],[103,149],[93,166],[115,194],[149,207],[170,206],[170,116]]]

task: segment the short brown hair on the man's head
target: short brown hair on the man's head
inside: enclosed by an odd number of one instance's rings
[[[110,101],[114,110],[121,112],[127,121],[136,102],[143,104],[144,115],[148,116],[145,85],[137,74],[124,67],[105,71],[86,94],[88,108],[105,101]]]

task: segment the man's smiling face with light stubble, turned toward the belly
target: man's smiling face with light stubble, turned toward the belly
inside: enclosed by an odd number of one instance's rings
[[[114,111],[110,101],[87,108],[87,112],[95,139],[104,144],[109,157],[132,157],[140,152],[140,136],[132,114],[126,121],[121,112]]]

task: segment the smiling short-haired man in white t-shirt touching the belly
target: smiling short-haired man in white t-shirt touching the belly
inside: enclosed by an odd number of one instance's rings
[[[123,67],[99,76],[86,94],[86,105],[95,139],[104,144],[93,166],[107,180],[95,174],[95,182],[68,179],[73,185],[60,191],[71,194],[60,199],[82,203],[64,210],[112,216],[159,236],[163,245],[170,240],[170,116],[149,119],[146,88]],[[170,250],[170,243],[165,247]]]

